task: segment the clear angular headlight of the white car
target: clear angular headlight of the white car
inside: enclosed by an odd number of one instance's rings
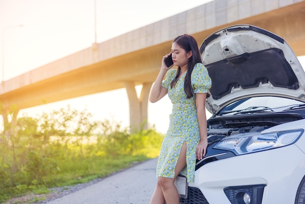
[[[233,151],[237,155],[248,154],[293,144],[303,132],[303,129],[298,129],[267,134],[238,134],[224,138],[213,148]]]

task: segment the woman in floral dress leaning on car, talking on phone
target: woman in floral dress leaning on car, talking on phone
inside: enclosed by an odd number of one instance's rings
[[[164,62],[171,54],[177,70]],[[158,182],[150,204],[179,204],[174,185],[176,177],[182,173],[188,182],[193,181],[196,159],[202,160],[208,146],[205,101],[210,85],[196,40],[190,35],[175,38],[171,53],[162,59],[149,98],[150,102],[157,102],[168,94],[173,105],[157,164]]]

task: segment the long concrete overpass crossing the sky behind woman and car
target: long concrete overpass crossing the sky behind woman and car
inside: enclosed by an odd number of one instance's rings
[[[187,33],[200,44],[233,24],[267,29],[284,38],[297,56],[305,55],[305,0],[214,0],[2,82],[3,120],[8,121],[11,105],[14,118],[23,108],[126,88],[130,124],[138,127],[147,120],[149,91],[173,38]],[[143,85],[140,98],[137,84]]]

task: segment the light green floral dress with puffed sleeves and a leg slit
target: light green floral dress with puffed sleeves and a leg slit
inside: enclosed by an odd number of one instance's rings
[[[207,68],[202,63],[197,63],[191,74],[194,96],[187,99],[184,91],[186,72],[171,88],[175,75],[176,69],[170,69],[166,74],[166,79],[162,82],[162,86],[168,89],[168,95],[172,101],[172,114],[168,131],[161,145],[156,172],[157,177],[174,178],[179,153],[182,144],[186,142],[187,165],[181,173],[187,177],[188,182],[192,182],[195,173],[196,146],[200,140],[195,93],[207,93],[211,80]]]

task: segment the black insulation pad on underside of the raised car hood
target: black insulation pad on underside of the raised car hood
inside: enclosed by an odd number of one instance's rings
[[[232,86],[248,89],[270,82],[275,87],[299,88],[296,75],[278,48],[244,53],[206,66],[213,79],[210,92],[216,100],[228,95]]]

